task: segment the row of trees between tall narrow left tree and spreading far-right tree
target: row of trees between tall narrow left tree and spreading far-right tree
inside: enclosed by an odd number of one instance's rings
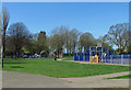
[[[45,31],[31,34],[24,23],[17,22],[9,26],[7,33],[7,55],[19,56],[22,52],[43,53],[45,56],[50,52],[71,55],[82,50],[84,46],[97,45],[97,40],[91,33],[80,33],[76,29],[69,30],[68,26],[56,27],[47,36]]]

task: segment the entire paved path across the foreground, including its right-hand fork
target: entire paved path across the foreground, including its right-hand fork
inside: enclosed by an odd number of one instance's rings
[[[41,75],[3,71],[2,86],[3,88],[127,88],[129,79],[104,79],[124,75],[129,75],[129,72],[83,78],[51,78]]]

